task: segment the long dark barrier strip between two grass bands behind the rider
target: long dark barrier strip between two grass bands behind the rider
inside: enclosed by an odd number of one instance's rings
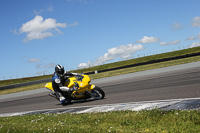
[[[147,62],[135,63],[135,64],[121,66],[121,67],[115,67],[115,68],[109,68],[109,69],[94,71],[94,72],[88,72],[88,73],[84,73],[84,74],[87,74],[87,75],[89,75],[89,74],[96,74],[96,73],[108,72],[108,71],[119,70],[119,69],[124,69],[124,68],[130,68],[130,67],[136,67],[136,66],[154,64],[154,63],[159,63],[159,62],[165,62],[165,61],[172,61],[172,60],[177,60],[177,59],[183,59],[183,58],[188,58],[188,57],[194,57],[194,56],[199,56],[199,55],[200,55],[200,52],[198,52],[198,53],[192,53],[192,54],[186,54],[186,55],[181,55],[181,56],[176,56],[176,57],[164,58],[164,59],[151,60],[151,61],[147,61]],[[7,85],[7,86],[0,87],[0,90],[13,89],[13,88],[17,88],[17,87],[23,87],[23,86],[34,85],[34,84],[39,84],[39,83],[45,83],[45,82],[50,82],[50,81],[51,81],[51,79],[43,79],[43,80],[26,82],[26,83],[20,83],[20,84],[14,84],[14,85]]]

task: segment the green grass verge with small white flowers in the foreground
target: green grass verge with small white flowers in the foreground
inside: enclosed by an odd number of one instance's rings
[[[0,118],[0,132],[198,133],[200,111],[143,110],[85,114],[37,114]]]

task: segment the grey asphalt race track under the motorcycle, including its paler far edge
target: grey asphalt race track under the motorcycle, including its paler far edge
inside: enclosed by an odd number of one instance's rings
[[[105,91],[103,100],[72,101],[62,106],[48,95],[48,90],[15,96],[0,96],[0,114],[71,108],[91,105],[129,103],[200,97],[200,62],[137,72],[94,80]],[[6,98],[4,98],[6,97]]]

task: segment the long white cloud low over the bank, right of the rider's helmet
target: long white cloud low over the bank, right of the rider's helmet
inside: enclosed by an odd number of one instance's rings
[[[130,58],[133,53],[142,49],[144,49],[144,47],[141,44],[120,45],[118,47],[108,49],[107,53],[97,58],[94,63],[91,63],[91,62],[80,63],[78,67],[86,68],[89,66],[101,65],[102,63],[106,63],[118,57],[122,59],[127,59],[127,58]]]

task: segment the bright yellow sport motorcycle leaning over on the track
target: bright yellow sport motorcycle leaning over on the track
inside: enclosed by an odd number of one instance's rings
[[[71,94],[69,94],[69,92],[63,91],[63,96],[67,100],[65,104],[69,104],[71,100],[86,100],[89,98],[94,98],[95,100],[103,99],[105,97],[104,91],[100,87],[95,86],[94,84],[90,84],[90,82],[90,77],[84,74],[77,74],[76,76],[68,78],[65,81],[64,86],[68,88],[75,87],[76,90],[73,91]],[[45,88],[55,93],[52,87],[52,82],[47,83],[45,85]],[[55,97],[55,95],[50,96]]]

